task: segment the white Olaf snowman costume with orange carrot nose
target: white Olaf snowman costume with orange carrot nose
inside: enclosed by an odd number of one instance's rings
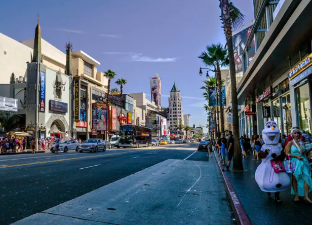
[[[263,192],[277,193],[285,191],[290,185],[290,177],[286,172],[275,173],[271,165],[273,161],[283,161],[285,153],[282,145],[279,143],[280,130],[274,121],[268,121],[262,130],[262,138],[265,142],[259,152],[262,158],[261,164],[258,166],[255,179]]]

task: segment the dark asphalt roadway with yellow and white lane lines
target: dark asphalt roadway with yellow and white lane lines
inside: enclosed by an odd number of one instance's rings
[[[196,146],[2,156],[0,224],[47,210],[167,159],[208,161],[207,152],[196,152]]]

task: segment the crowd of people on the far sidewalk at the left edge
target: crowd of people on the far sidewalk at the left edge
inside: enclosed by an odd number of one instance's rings
[[[15,153],[25,152],[26,149],[26,137],[23,139],[15,137],[4,137],[0,139],[1,153]]]

